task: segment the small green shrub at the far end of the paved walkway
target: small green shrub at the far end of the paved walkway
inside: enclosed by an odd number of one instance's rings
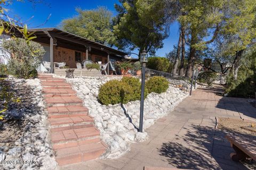
[[[218,74],[211,71],[201,72],[197,76],[198,82],[207,83],[209,87],[212,86],[212,83],[217,80]]]

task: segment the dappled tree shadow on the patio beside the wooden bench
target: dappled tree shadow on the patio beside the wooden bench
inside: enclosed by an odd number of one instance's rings
[[[186,128],[185,128],[186,129]],[[177,168],[189,169],[255,169],[253,162],[233,162],[229,154],[234,152],[225,139],[227,132],[208,126],[191,124],[183,138],[163,143],[159,155]]]

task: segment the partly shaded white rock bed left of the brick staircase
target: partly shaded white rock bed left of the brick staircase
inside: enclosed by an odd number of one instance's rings
[[[19,102],[9,103],[2,113],[0,169],[58,169],[49,139],[39,79],[6,78],[10,92]],[[23,162],[24,161],[24,162]]]

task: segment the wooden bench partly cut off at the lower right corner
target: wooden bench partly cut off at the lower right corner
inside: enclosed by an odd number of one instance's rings
[[[231,153],[230,158],[234,161],[245,160],[251,158],[256,160],[256,138],[249,135],[226,135],[226,139],[230,142],[230,146],[236,151]]]

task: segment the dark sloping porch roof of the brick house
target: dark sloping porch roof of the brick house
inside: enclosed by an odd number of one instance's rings
[[[49,38],[58,38],[62,41],[65,41],[65,44],[79,44],[84,45],[87,47],[95,48],[98,50],[102,50],[103,52],[114,54],[119,57],[124,57],[124,55],[127,55],[127,53],[121,52],[117,49],[110,48],[108,46],[102,45],[100,43],[97,43],[95,41],[91,41],[89,39],[74,35],[73,33],[69,33],[66,31],[62,31],[57,28],[39,28],[39,29],[29,29],[28,31],[34,32],[34,35],[37,37],[37,40],[41,40],[42,42],[49,42]],[[58,41],[57,41],[58,43]]]

